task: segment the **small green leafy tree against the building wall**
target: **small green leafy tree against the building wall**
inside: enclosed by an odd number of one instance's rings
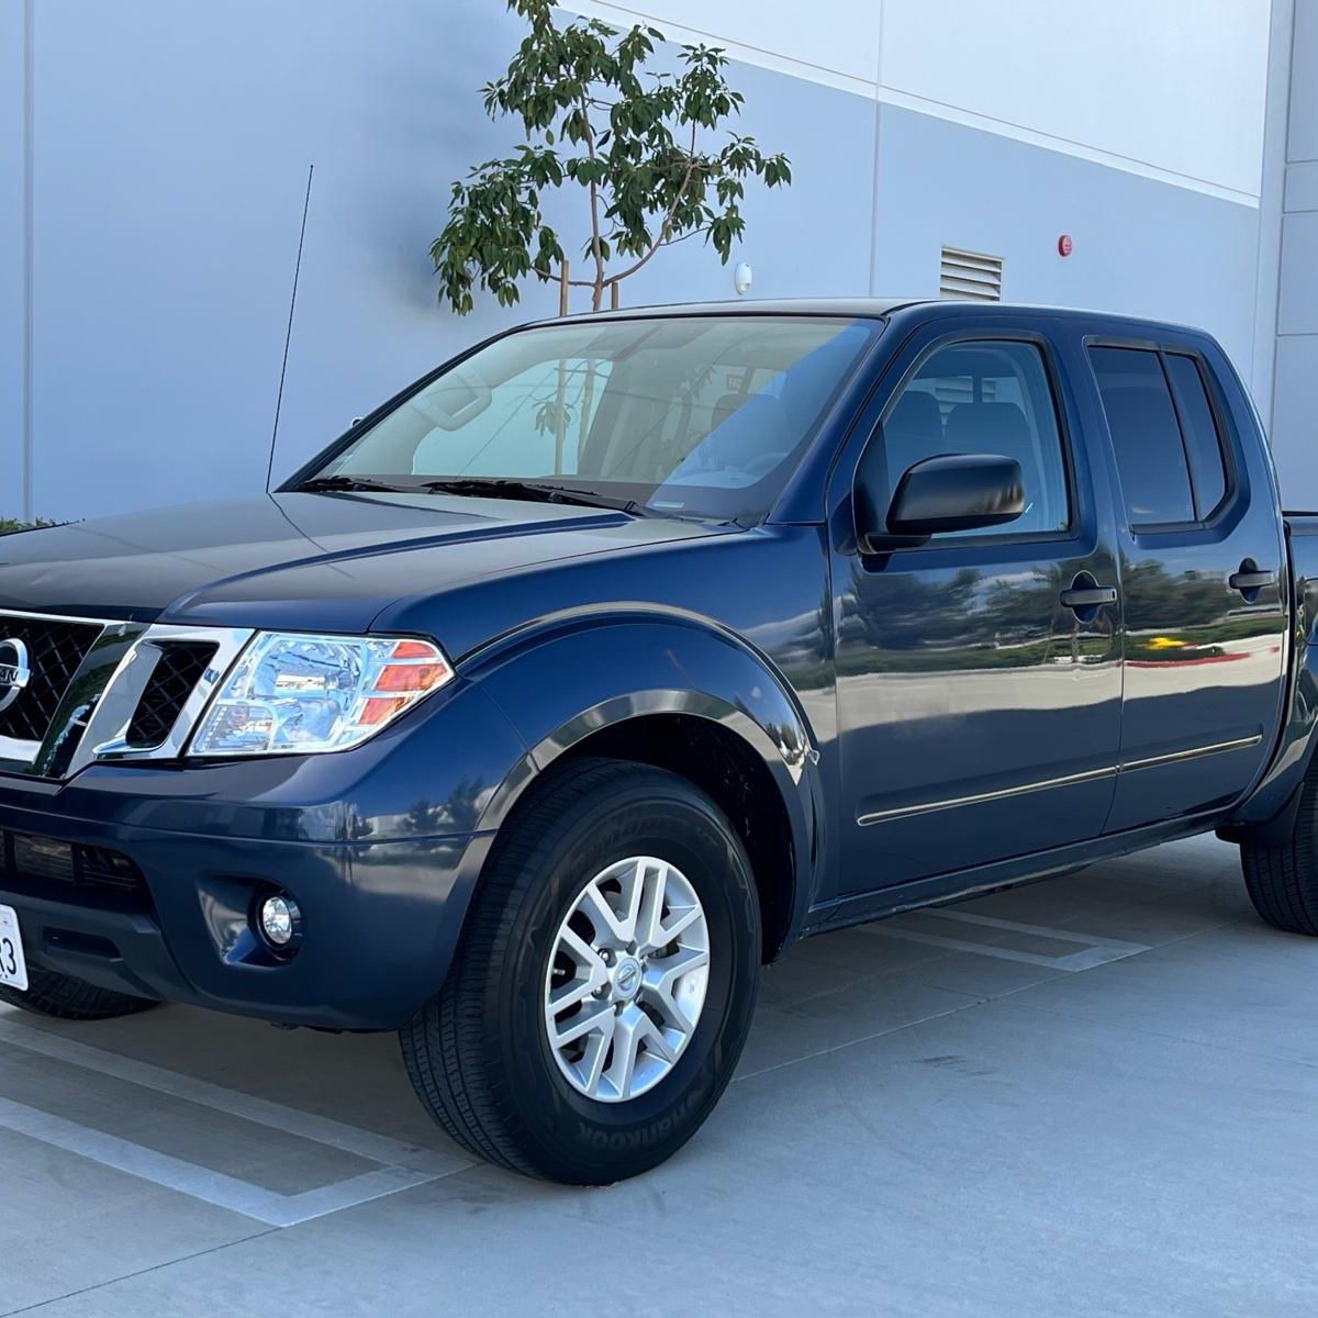
[[[548,0],[507,0],[530,32],[507,72],[485,87],[492,119],[521,119],[527,141],[505,159],[477,165],[453,185],[452,207],[431,256],[440,301],[459,315],[485,289],[502,306],[527,277],[589,289],[598,310],[664,248],[704,240],[726,264],[746,221],[746,182],[791,183],[786,156],[753,137],[721,132],[743,98],[725,79],[728,59],[683,46],[677,72],[646,69],[663,33],[619,32],[597,18],[555,22]],[[542,210],[550,191],[576,186],[587,203],[577,277]]]

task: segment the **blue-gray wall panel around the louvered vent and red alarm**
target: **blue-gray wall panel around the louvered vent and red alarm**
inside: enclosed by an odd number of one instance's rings
[[[876,290],[937,291],[942,244],[988,252],[1006,299],[1197,324],[1248,370],[1255,208],[894,105],[879,142]]]

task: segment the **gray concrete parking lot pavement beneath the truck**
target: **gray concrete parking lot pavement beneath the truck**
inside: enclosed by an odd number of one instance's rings
[[[1318,1311],[1318,942],[1211,840],[804,944],[672,1162],[472,1162],[391,1037],[0,1008],[0,1314]]]

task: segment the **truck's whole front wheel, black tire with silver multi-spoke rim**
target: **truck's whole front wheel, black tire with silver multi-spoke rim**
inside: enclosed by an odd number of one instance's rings
[[[409,1075],[490,1162],[635,1176],[731,1078],[759,949],[750,862],[718,807],[663,770],[580,760],[492,854],[448,981],[401,1033]]]

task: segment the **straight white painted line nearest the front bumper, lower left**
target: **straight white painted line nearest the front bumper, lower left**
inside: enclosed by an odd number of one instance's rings
[[[212,1085],[210,1081],[166,1070],[163,1066],[153,1066],[150,1062],[121,1057],[119,1053],[105,1052],[103,1048],[91,1048],[72,1039],[63,1039],[45,1029],[21,1025],[3,1017],[0,1017],[0,1043],[40,1053],[43,1057],[53,1057],[55,1061],[82,1066],[101,1075],[111,1075],[115,1079],[128,1081],[130,1085],[140,1085],[142,1089],[152,1089],[159,1094],[169,1094],[171,1098],[182,1098],[200,1107],[227,1112],[229,1116],[240,1116],[244,1120],[256,1122],[258,1126],[269,1126],[272,1130],[297,1135],[315,1144],[328,1144],[331,1148],[356,1153],[372,1162],[411,1168],[434,1176],[447,1176],[449,1172],[473,1165],[471,1159],[439,1149],[422,1148],[418,1144],[405,1144],[387,1135],[362,1131],[356,1126],[347,1126],[327,1116],[316,1116],[312,1112],[298,1111],[295,1107],[285,1107],[282,1103],[272,1103],[264,1098],[241,1094],[237,1090]]]

